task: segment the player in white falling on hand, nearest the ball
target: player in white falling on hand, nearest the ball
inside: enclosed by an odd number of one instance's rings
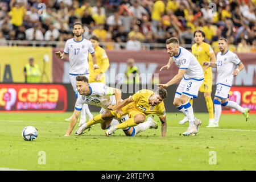
[[[121,90],[110,88],[101,82],[92,82],[88,84],[88,78],[85,75],[79,75],[76,77],[76,87],[79,92],[77,97],[76,106],[74,113],[71,117],[71,122],[69,123],[69,127],[66,137],[69,137],[72,133],[73,128],[76,125],[77,119],[79,118],[80,111],[82,109],[82,105],[96,105],[102,107],[100,113],[105,113],[106,108],[111,105],[116,105],[121,101]],[[123,115],[118,120],[119,122],[126,121],[129,119],[128,115]],[[118,121],[116,119],[107,119],[105,122],[101,122],[102,129],[108,129],[110,125],[117,125]],[[123,132],[127,136],[134,136],[148,128],[157,128],[158,125],[154,122],[154,120],[148,117],[147,121],[142,125],[138,125],[136,127],[125,127]]]

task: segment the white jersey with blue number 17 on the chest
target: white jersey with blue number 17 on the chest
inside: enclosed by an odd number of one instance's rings
[[[69,55],[69,74],[84,75],[89,73],[88,53],[94,53],[94,48],[89,40],[82,38],[76,42],[74,38],[65,43],[64,53]]]

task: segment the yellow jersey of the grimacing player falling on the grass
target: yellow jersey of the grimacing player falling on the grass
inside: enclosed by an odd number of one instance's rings
[[[147,89],[139,90],[137,93],[131,96],[131,100],[133,100],[134,102],[131,102],[129,105],[134,109],[137,109],[137,111],[141,111],[145,115],[156,114],[158,115],[159,118],[165,118],[166,108],[164,107],[163,101],[156,106],[151,106],[148,103],[148,99],[153,94],[154,92],[151,90],[147,90]]]

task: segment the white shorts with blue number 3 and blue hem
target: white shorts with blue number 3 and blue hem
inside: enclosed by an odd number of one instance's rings
[[[197,98],[199,88],[203,84],[203,82],[204,82],[204,78],[200,80],[197,80],[195,78],[185,80],[185,78],[182,78],[179,86],[177,87],[175,98],[180,98],[182,94],[190,98]]]

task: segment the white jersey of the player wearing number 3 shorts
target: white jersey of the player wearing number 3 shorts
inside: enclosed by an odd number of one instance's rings
[[[196,60],[196,57],[189,52],[187,49],[180,47],[179,55],[173,56],[174,63],[179,67],[179,69],[186,69],[187,71],[184,74],[185,80],[203,80],[204,72]]]

